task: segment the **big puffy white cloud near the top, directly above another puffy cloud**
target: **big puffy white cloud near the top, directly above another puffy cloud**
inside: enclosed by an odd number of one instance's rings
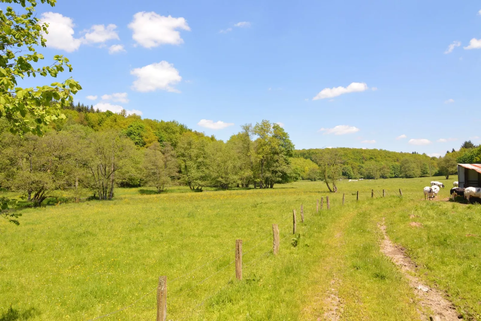
[[[187,21],[182,17],[174,18],[170,15],[166,17],[145,11],[134,14],[134,20],[128,27],[133,31],[132,39],[145,48],[184,43],[176,29],[190,31]]]

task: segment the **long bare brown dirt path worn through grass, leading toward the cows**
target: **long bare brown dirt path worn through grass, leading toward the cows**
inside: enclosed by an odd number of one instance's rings
[[[411,224],[412,223],[416,222],[411,222]],[[454,305],[443,297],[441,291],[430,288],[413,275],[416,273],[416,264],[405,254],[403,247],[392,243],[388,238],[386,227],[384,226],[384,219],[382,225],[378,223],[378,226],[384,235],[384,240],[381,243],[381,252],[388,256],[392,262],[401,269],[401,272],[409,281],[409,285],[414,293],[418,296],[421,307],[430,308],[434,315],[441,317],[441,320],[455,321],[462,319],[456,312]],[[419,314],[422,320],[429,319],[423,311],[419,311]]]

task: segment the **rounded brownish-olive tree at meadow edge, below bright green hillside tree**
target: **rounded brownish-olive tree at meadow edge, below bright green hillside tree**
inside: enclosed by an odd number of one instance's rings
[[[174,149],[169,143],[165,143],[164,147],[158,142],[153,143],[144,150],[142,167],[147,186],[155,187],[158,193],[164,191],[177,176],[178,167]]]

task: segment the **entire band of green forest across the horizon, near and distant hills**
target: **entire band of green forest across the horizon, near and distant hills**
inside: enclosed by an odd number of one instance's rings
[[[295,150],[289,134],[262,120],[241,126],[227,142],[175,120],[142,119],[70,104],[42,127],[43,135],[11,134],[0,123],[0,187],[39,205],[47,198],[110,200],[115,187],[273,188],[297,180],[336,181],[456,173],[479,162],[481,147],[465,142],[444,157],[383,149]],[[469,145],[470,144],[470,145]]]

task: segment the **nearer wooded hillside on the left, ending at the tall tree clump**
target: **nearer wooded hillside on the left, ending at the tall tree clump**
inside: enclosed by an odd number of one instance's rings
[[[177,121],[67,108],[42,136],[0,128],[0,187],[47,198],[110,200],[116,187],[272,188],[290,181],[294,149],[278,124],[242,126],[227,142]],[[95,115],[95,118],[92,117]]]

